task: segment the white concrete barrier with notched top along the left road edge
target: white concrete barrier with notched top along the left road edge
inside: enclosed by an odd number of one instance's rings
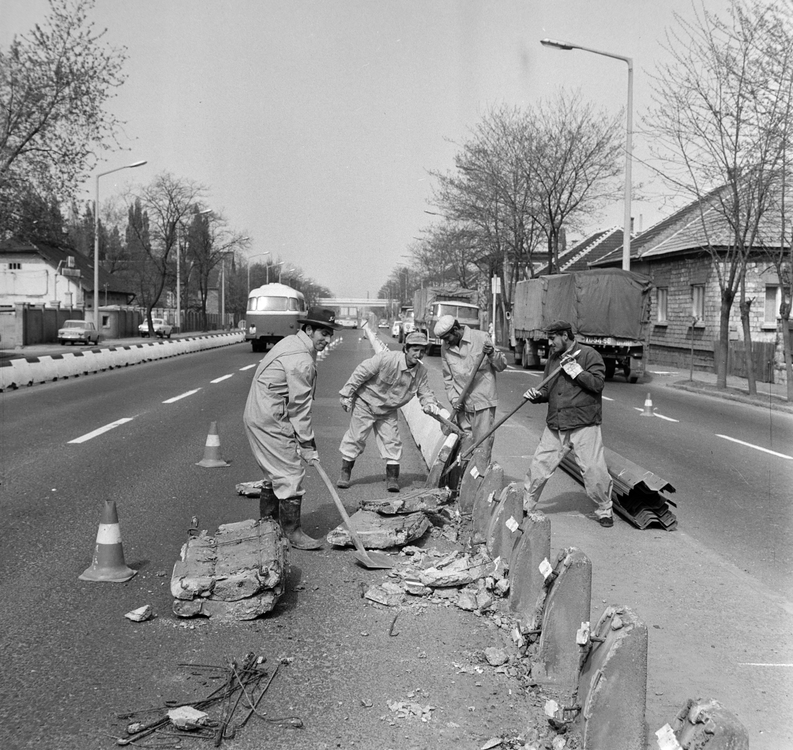
[[[44,354],[40,357],[24,357],[0,361],[0,392],[25,385],[48,383],[67,377],[78,377],[89,373],[139,362],[154,362],[159,359],[190,354],[195,351],[217,349],[243,341],[245,334],[236,333],[190,336],[168,341],[152,341],[128,346],[94,347],[65,354]]]

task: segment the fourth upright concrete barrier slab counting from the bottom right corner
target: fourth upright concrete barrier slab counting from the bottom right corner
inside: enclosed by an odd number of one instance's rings
[[[519,489],[519,503],[523,508],[523,487]],[[526,626],[531,626],[542,617],[537,612],[537,603],[543,592],[545,576],[540,564],[550,557],[550,518],[534,511],[523,518],[520,538],[512,551],[509,564],[509,611]]]

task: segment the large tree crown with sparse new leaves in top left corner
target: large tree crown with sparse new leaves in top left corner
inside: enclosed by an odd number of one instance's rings
[[[72,197],[119,122],[105,110],[125,80],[125,51],[88,20],[93,0],[50,0],[42,25],[0,50],[0,231],[17,202]]]

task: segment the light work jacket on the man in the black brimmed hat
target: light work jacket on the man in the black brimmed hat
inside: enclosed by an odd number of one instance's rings
[[[243,419],[269,423],[278,409],[285,409],[297,442],[312,445],[311,407],[316,386],[316,349],[303,331],[281,339],[266,355],[251,383]],[[291,437],[291,436],[285,436]]]

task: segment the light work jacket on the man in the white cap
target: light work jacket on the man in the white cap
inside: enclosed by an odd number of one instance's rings
[[[482,353],[485,344],[492,344],[485,331],[477,331],[468,326],[462,327],[462,339],[457,346],[449,346],[443,342],[441,358],[443,361],[443,383],[446,385],[446,395],[452,402],[462,392],[465,383],[473,372],[473,365]],[[479,411],[498,406],[496,393],[496,373],[507,369],[507,358],[504,353],[494,349],[489,357],[485,357],[473,385],[465,396],[465,411]]]

